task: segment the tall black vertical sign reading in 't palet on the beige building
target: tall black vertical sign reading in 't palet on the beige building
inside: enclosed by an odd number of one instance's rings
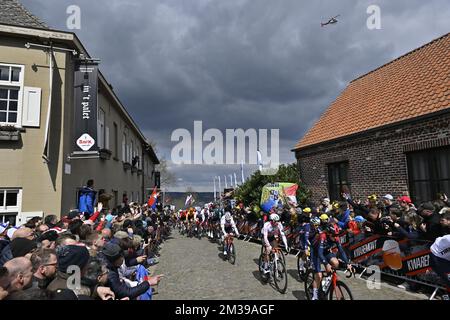
[[[75,123],[73,154],[95,153],[97,145],[98,64],[78,61],[75,65]]]

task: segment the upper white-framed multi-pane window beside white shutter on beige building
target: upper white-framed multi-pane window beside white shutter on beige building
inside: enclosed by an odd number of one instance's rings
[[[0,64],[0,123],[21,125],[23,66]]]

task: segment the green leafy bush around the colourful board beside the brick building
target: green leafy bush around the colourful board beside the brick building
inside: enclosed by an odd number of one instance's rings
[[[306,203],[311,197],[311,191],[307,190],[300,181],[300,173],[295,163],[289,165],[280,165],[278,172],[272,176],[261,175],[258,170],[253,173],[244,184],[235,191],[235,197],[244,202],[244,205],[259,204],[261,200],[262,188],[268,183],[292,182],[298,184],[297,201]]]

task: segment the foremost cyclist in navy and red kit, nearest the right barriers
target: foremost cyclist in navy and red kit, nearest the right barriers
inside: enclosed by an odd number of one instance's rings
[[[312,300],[318,300],[320,283],[322,281],[321,264],[325,266],[325,271],[330,273],[332,268],[339,267],[339,260],[333,249],[337,247],[340,258],[347,264],[349,270],[352,269],[342,246],[337,238],[335,225],[330,223],[319,226],[311,245],[311,263],[314,271],[313,296]]]

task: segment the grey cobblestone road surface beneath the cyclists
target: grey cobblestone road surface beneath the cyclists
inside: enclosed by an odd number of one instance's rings
[[[271,284],[260,281],[258,257],[260,245],[235,240],[236,264],[222,260],[216,243],[207,238],[191,239],[172,233],[161,249],[160,263],[154,274],[163,273],[155,300],[229,300],[229,299],[279,299],[304,300],[303,283],[297,280],[296,258],[287,257],[288,290],[278,293]],[[369,290],[362,279],[345,279],[355,299],[399,300],[426,299],[425,295],[412,294],[383,284],[381,289]]]

